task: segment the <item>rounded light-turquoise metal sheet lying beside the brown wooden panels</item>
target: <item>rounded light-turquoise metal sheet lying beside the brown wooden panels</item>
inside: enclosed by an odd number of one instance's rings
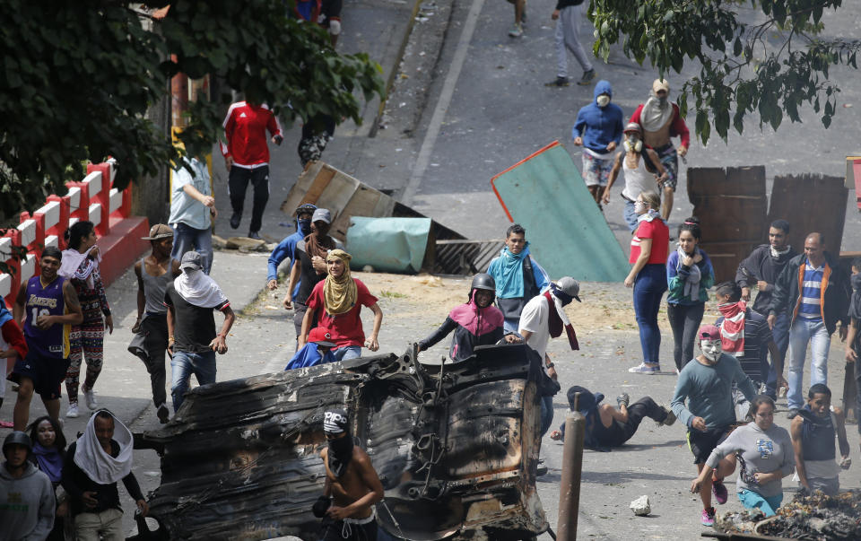
[[[430,218],[362,218],[353,216],[347,230],[350,266],[376,271],[417,273],[431,232]]]

